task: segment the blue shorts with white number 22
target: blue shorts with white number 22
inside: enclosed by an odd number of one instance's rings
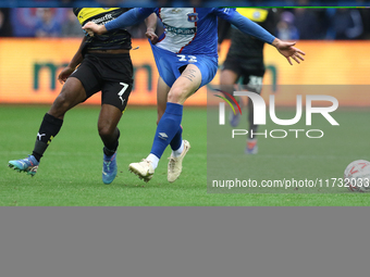
[[[151,45],[159,75],[172,87],[182,74],[181,70],[188,64],[195,64],[201,73],[200,87],[210,83],[218,71],[218,58],[206,54],[176,54]],[[200,88],[199,87],[199,88]]]

